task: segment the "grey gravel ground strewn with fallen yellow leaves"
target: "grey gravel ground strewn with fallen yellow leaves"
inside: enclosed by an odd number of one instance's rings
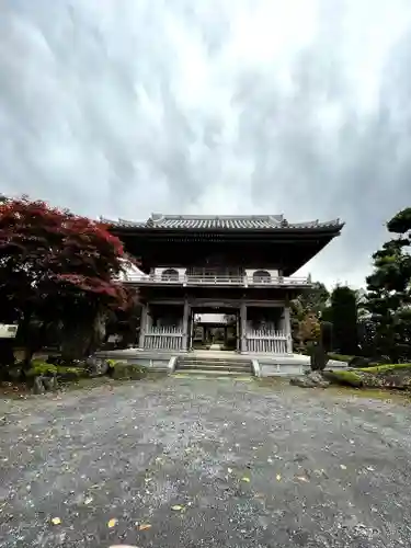
[[[0,547],[410,546],[410,410],[181,375],[2,400]]]

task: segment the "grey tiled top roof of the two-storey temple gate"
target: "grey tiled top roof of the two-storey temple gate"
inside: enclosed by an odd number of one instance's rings
[[[118,228],[170,228],[170,229],[310,229],[341,228],[340,219],[320,222],[288,222],[283,215],[243,215],[243,216],[203,216],[203,215],[161,215],[152,214],[147,221],[109,220],[103,222]]]

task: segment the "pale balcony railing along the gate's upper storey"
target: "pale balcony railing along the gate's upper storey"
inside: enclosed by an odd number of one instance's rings
[[[239,275],[196,275],[196,274],[138,274],[127,273],[124,283],[137,286],[182,286],[182,287],[310,287],[309,277],[296,276],[239,276]]]

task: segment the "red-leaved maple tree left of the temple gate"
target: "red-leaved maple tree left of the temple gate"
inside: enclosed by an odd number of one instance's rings
[[[2,199],[0,320],[18,316],[24,326],[34,313],[76,338],[96,315],[130,305],[133,295],[115,281],[129,261],[102,222],[25,196]]]

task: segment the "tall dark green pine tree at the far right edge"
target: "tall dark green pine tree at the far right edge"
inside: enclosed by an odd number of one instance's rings
[[[396,238],[373,255],[366,307],[375,326],[375,349],[397,363],[411,358],[411,207],[387,222]]]

